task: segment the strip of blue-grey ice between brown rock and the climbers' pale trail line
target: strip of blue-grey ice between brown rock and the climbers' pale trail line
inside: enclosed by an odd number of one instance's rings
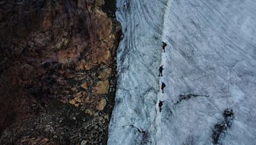
[[[165,1],[116,1],[122,24],[115,107],[108,144],[156,144]],[[157,9],[156,9],[157,8]]]

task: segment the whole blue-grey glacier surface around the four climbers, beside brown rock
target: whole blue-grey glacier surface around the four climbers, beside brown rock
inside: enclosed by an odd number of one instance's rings
[[[108,144],[255,144],[256,1],[116,7],[123,35]]]

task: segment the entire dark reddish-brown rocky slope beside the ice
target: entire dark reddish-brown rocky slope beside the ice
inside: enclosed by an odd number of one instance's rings
[[[115,1],[1,1],[0,29],[0,144],[105,144]]]

